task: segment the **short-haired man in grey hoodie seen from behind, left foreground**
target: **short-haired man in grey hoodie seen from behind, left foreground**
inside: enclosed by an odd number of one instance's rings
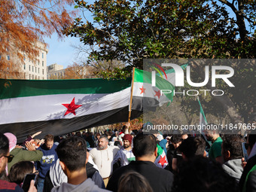
[[[72,136],[63,140],[56,148],[59,164],[68,177],[68,182],[53,187],[51,192],[103,192],[104,190],[87,178],[86,163],[88,161],[87,144],[84,139]]]

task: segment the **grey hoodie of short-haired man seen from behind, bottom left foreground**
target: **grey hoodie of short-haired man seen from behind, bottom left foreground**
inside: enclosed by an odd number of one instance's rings
[[[69,184],[69,183],[62,183],[58,187],[54,187],[51,192],[108,192],[110,190],[105,190],[99,188],[91,178],[87,178],[81,184]]]

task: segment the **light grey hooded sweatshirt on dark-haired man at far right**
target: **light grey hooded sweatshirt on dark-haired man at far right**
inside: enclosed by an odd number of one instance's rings
[[[236,178],[236,181],[239,182],[242,175],[242,166],[241,159],[228,160],[222,165],[225,172],[233,178]]]

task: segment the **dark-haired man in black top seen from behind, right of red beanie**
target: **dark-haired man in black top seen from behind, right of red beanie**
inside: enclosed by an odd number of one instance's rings
[[[153,135],[140,133],[133,139],[133,154],[136,161],[127,166],[122,166],[114,171],[108,181],[107,190],[117,191],[119,178],[126,172],[135,171],[143,175],[151,185],[154,192],[171,191],[173,174],[161,169],[154,164],[157,157],[157,142]]]

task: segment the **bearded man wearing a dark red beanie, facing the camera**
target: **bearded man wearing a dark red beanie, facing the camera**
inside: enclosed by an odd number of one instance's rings
[[[132,160],[135,160],[135,156],[132,151],[133,136],[125,134],[123,136],[123,147],[117,152],[114,157],[113,164],[120,160],[120,166],[128,165]]]

